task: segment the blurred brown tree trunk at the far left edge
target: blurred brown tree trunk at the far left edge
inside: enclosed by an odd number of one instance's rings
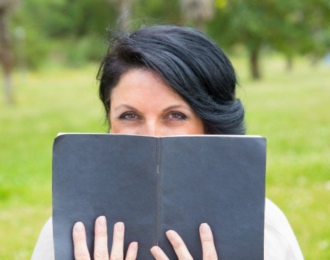
[[[16,4],[15,0],[0,0],[0,63],[4,71],[5,100],[9,103],[14,103],[14,90],[11,82],[14,57],[9,34],[9,15]]]

